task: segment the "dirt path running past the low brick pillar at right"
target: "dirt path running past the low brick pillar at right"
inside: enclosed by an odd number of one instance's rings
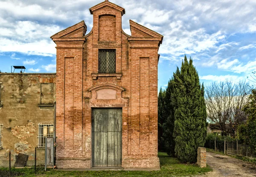
[[[207,177],[256,177],[256,165],[233,157],[207,152],[207,164]]]

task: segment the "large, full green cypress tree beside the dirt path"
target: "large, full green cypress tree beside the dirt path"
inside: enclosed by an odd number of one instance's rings
[[[204,86],[192,62],[185,55],[180,72],[174,74],[175,155],[183,162],[196,162],[197,148],[204,146],[206,136]]]

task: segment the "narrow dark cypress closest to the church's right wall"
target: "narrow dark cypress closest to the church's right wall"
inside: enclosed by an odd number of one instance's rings
[[[164,150],[164,139],[163,139],[163,123],[165,118],[163,116],[164,98],[165,90],[160,87],[160,92],[158,94],[158,151]]]

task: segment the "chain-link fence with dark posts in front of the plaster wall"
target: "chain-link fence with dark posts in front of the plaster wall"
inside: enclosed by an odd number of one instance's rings
[[[12,176],[12,168],[42,167],[45,165],[45,149],[35,148],[34,151],[24,151],[18,154],[6,153],[0,155],[0,168],[9,168],[9,176]]]

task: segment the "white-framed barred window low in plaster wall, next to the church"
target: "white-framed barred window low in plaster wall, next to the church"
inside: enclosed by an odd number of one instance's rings
[[[53,124],[38,124],[38,147],[45,147],[45,138],[53,137]]]

